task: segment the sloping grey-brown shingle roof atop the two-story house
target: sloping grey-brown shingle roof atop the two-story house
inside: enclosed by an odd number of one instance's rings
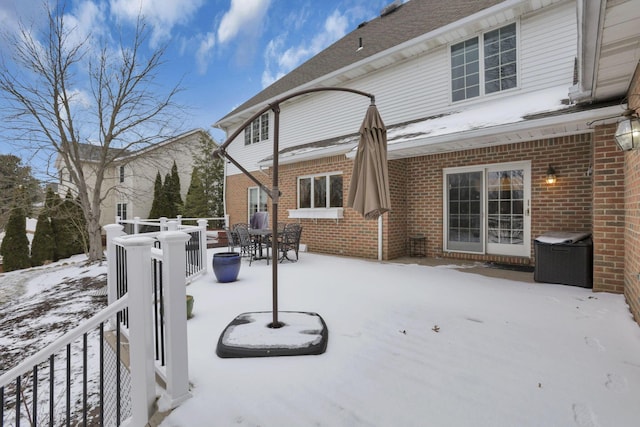
[[[286,74],[218,120],[264,103],[322,76],[355,64],[382,51],[487,9],[502,0],[410,0],[383,9],[325,50]],[[387,11],[388,13],[384,13]],[[359,47],[362,46],[362,49]]]

